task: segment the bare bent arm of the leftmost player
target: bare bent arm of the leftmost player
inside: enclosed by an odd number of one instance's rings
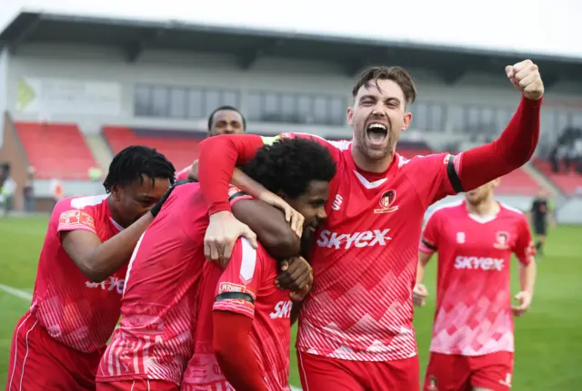
[[[83,212],[83,210],[80,210]],[[102,242],[91,229],[66,230],[60,228],[61,243],[66,253],[73,259],[77,268],[93,282],[101,282],[121,268],[130,258],[137,240],[154,220],[146,213],[132,225],[113,238]]]

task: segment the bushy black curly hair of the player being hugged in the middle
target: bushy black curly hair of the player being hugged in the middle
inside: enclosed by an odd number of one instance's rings
[[[310,181],[331,181],[336,162],[326,147],[296,137],[265,145],[243,171],[268,191],[295,199],[307,191]]]

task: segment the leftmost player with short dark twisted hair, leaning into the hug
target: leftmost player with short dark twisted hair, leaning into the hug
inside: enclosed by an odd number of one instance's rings
[[[156,150],[128,147],[109,166],[108,195],[56,204],[32,305],[15,329],[7,390],[95,389],[99,359],[119,318],[124,264],[161,209],[175,171]]]

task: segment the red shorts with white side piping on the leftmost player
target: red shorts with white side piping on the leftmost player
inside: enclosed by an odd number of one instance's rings
[[[102,354],[82,353],[55,341],[27,312],[12,337],[6,390],[95,391],[95,373]]]

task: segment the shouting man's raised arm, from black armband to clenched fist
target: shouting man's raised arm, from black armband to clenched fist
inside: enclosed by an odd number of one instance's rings
[[[470,191],[523,166],[536,150],[544,84],[531,61],[507,67],[507,77],[523,97],[495,142],[462,152],[451,162],[448,177],[457,192]]]

